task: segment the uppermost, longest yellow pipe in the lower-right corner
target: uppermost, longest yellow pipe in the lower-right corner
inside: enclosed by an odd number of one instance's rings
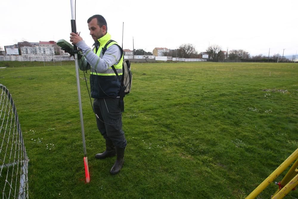
[[[296,149],[268,178],[266,178],[257,188],[254,189],[246,199],[254,199],[259,195],[275,178],[277,178],[292,162],[298,158],[298,149]],[[295,181],[294,178],[292,181]],[[297,180],[297,179],[296,179]],[[297,186],[297,185],[296,185]]]

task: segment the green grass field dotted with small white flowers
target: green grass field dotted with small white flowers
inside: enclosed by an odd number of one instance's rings
[[[115,158],[94,158],[105,144],[80,72],[86,184],[74,62],[37,63],[0,62],[30,159],[30,198],[245,198],[298,147],[298,64],[133,63],[125,163],[112,176]]]

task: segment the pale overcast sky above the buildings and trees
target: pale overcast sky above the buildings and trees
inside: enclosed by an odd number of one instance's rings
[[[70,0],[1,1],[0,46],[65,39],[71,32]],[[251,55],[298,50],[297,0],[212,1],[98,1],[77,0],[77,31],[91,47],[87,19],[101,14],[112,39],[123,48],[176,49],[193,44],[200,53],[217,44],[226,50],[242,49]]]

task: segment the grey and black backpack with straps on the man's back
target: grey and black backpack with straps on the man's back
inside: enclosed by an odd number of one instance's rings
[[[105,46],[102,49],[103,55],[105,54],[105,51],[107,50],[108,45],[113,42],[114,40],[109,40]],[[123,50],[122,48],[117,44],[117,46],[120,48],[122,54]],[[121,57],[122,58],[122,57]],[[120,58],[120,59],[121,59]],[[131,91],[131,84],[132,84],[132,72],[130,67],[130,61],[129,60],[123,60],[122,63],[122,78],[120,79],[114,65],[111,66],[111,68],[114,70],[115,74],[119,78],[119,81],[121,82],[121,90],[120,90],[120,109],[121,112],[124,112],[124,101],[123,98],[125,95],[127,95]]]

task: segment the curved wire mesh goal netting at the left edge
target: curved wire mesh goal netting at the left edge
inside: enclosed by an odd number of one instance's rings
[[[17,110],[0,84],[0,189],[3,198],[28,198],[28,157]]]

